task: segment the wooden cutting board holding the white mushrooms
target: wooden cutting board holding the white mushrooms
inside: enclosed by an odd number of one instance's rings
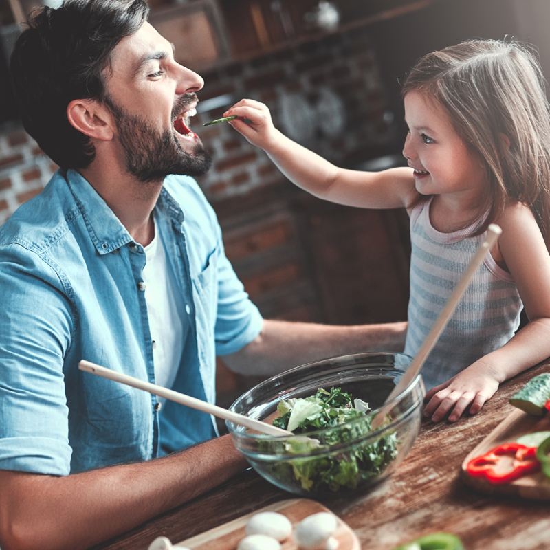
[[[245,527],[248,520],[259,514],[261,511],[276,511],[283,516],[287,516],[292,522],[292,526],[296,525],[311,516],[311,514],[317,514],[320,511],[325,511],[334,516],[338,522],[338,528],[333,534],[333,537],[338,540],[338,550],[360,550],[361,545],[355,533],[340,519],[333,514],[329,509],[325,508],[322,504],[315,500],[309,500],[308,498],[292,498],[290,500],[281,500],[276,504],[263,507],[259,510],[247,514],[241,518],[220,525],[215,529],[210,529],[206,533],[188,538],[175,544],[175,547],[183,546],[188,547],[191,550],[236,550],[239,542],[245,538]],[[298,546],[292,540],[292,537],[282,543],[282,550],[298,550]]]

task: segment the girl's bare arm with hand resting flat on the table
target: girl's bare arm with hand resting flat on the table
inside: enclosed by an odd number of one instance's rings
[[[451,409],[451,422],[468,406],[470,414],[475,414],[501,382],[550,357],[550,255],[542,234],[531,210],[519,203],[508,207],[498,224],[503,229],[498,248],[514,277],[529,323],[503,347],[426,394],[424,415],[434,422]]]

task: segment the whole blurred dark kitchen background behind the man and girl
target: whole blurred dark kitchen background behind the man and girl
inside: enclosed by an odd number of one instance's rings
[[[8,78],[17,22],[37,0],[0,0],[0,224],[56,170],[23,130]],[[53,0],[55,1],[55,0]],[[52,5],[52,0],[48,0]],[[399,82],[432,50],[472,38],[535,45],[550,74],[549,0],[151,0],[150,21],[205,80],[192,129],[214,153],[199,179],[227,255],[265,318],[340,325],[406,319],[404,211],[298,190],[228,124],[253,98],[297,142],[347,168],[404,164]],[[52,136],[54,139],[54,136]],[[220,364],[222,404],[245,383]],[[224,397],[225,396],[225,397]]]

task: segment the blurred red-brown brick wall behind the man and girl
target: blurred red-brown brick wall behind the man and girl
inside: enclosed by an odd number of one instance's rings
[[[265,102],[276,126],[284,130],[280,105],[286,94],[299,94],[314,113],[310,123],[316,124],[321,116],[316,111],[319,91],[328,89],[345,106],[345,126],[333,133],[316,127],[306,146],[340,166],[353,166],[392,148],[391,113],[386,112],[375,52],[365,29],[333,34],[202,76],[199,108],[206,110],[192,119],[192,129],[214,154],[212,170],[199,178],[213,203],[283,179],[267,155],[229,124],[202,127],[243,97]],[[0,224],[40,192],[56,168],[17,124],[0,128]]]

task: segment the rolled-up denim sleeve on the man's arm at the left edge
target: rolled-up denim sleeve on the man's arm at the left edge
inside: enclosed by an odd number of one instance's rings
[[[72,309],[56,271],[18,244],[0,261],[0,469],[67,475],[63,357]]]

